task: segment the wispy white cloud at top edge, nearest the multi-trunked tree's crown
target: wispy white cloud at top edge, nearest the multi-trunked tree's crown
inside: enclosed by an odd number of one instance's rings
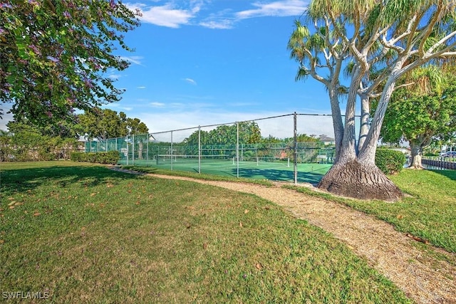
[[[307,6],[307,1],[284,0],[274,1],[267,4],[262,2],[255,2],[252,5],[257,7],[257,9],[239,11],[236,16],[239,19],[264,16],[297,16],[304,13],[304,9],[306,9]]]

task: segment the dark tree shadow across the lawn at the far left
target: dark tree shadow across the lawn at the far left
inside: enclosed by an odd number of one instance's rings
[[[115,178],[135,179],[136,175],[125,172],[113,172],[107,167],[39,167],[26,169],[9,169],[1,172],[1,196],[6,197],[17,192],[26,193],[28,190],[43,185],[66,187],[68,184],[81,183],[84,187],[95,187],[99,184],[117,184]]]

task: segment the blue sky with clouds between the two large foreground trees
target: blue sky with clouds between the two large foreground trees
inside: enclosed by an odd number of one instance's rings
[[[301,0],[124,1],[142,25],[125,35],[131,65],[110,71],[124,88],[105,108],[138,117],[150,132],[299,113],[330,113],[326,90],[296,82],[286,44]],[[312,119],[306,134],[332,135],[330,120]],[[4,122],[4,121],[2,121]],[[0,128],[4,123],[1,123]],[[280,128],[280,122],[274,128]],[[264,130],[264,136],[272,131]]]

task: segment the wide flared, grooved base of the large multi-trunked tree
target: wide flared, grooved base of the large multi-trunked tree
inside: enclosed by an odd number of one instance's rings
[[[355,199],[395,201],[403,196],[375,164],[363,164],[356,159],[334,164],[321,179],[318,188]]]

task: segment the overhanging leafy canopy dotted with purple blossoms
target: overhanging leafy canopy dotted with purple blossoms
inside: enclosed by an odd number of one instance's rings
[[[108,69],[129,62],[122,33],[139,26],[138,12],[115,0],[14,0],[0,4],[0,101],[36,124],[71,119],[120,100]]]

